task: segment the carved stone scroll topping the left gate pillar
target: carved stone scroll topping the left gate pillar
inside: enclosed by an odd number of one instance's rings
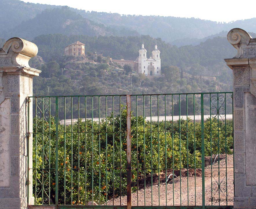
[[[10,38],[5,42],[3,48],[0,48],[0,67],[30,67],[28,61],[36,56],[37,52],[36,44],[18,37]]]

